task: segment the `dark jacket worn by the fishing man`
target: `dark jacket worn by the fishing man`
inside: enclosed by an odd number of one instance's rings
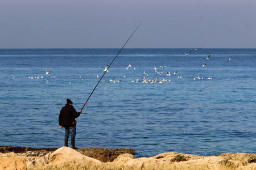
[[[72,105],[66,104],[60,111],[59,124],[64,128],[76,126],[75,119],[79,116],[80,113],[76,112],[76,109]]]

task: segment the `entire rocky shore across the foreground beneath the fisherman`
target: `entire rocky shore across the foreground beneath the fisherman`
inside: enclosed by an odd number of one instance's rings
[[[132,148],[0,147],[2,169],[256,169],[256,154],[199,156],[166,152],[135,158]]]

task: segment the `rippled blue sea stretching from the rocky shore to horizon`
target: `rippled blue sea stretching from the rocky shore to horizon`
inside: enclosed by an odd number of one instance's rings
[[[76,146],[134,148],[137,158],[256,153],[256,49],[191,50],[123,49],[77,120]],[[79,111],[118,51],[0,49],[0,146],[63,146],[65,100]],[[158,82],[142,83],[144,70]]]

